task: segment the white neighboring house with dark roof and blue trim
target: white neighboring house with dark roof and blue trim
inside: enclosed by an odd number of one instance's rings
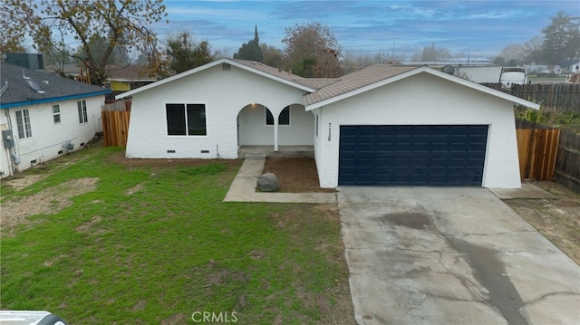
[[[110,90],[6,62],[0,75],[2,177],[82,148],[101,131]]]

